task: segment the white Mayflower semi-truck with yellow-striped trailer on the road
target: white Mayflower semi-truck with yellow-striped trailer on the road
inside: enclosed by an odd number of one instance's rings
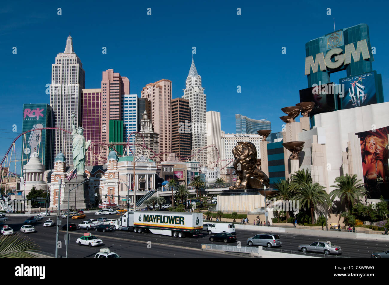
[[[127,212],[118,219],[117,229],[143,233],[163,234],[184,238],[202,236],[203,214],[183,212],[136,211]]]

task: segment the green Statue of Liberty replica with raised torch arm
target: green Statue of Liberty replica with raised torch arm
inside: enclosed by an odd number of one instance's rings
[[[88,140],[85,143],[85,138],[83,136],[84,129],[76,128],[74,124],[75,113],[72,113],[72,138],[73,138],[73,167],[77,171],[77,175],[84,175],[85,170],[85,152],[88,150],[91,140]]]

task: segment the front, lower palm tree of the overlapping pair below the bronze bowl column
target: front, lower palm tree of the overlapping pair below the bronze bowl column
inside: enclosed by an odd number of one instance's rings
[[[325,188],[319,183],[315,184],[300,184],[300,189],[293,197],[294,200],[298,200],[300,209],[307,207],[311,212],[311,223],[314,224],[314,212],[318,204],[331,206],[329,195]]]

